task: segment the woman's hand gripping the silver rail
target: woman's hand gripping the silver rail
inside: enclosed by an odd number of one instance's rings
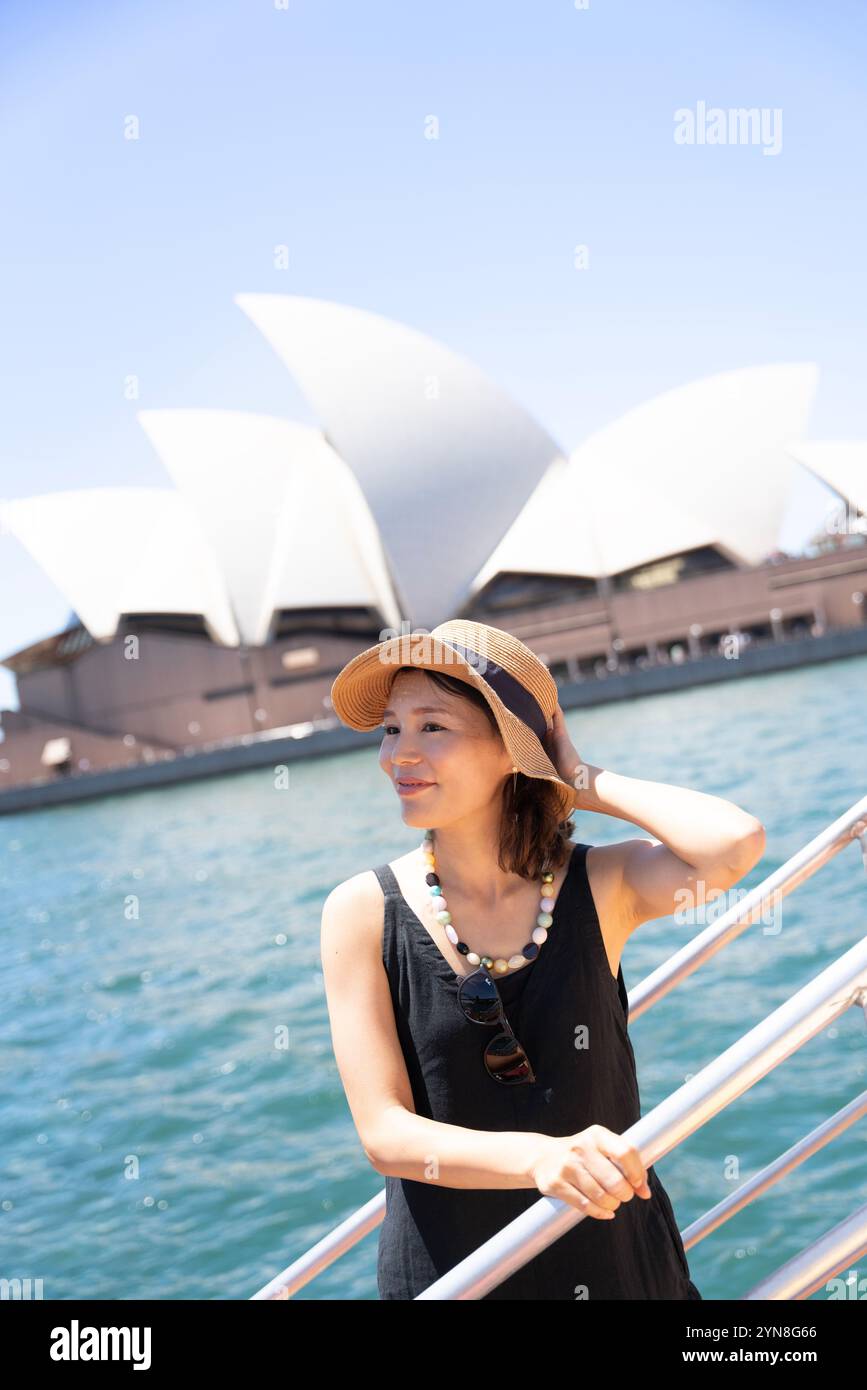
[[[635,1193],[645,1201],[653,1195],[639,1151],[603,1125],[565,1138],[546,1136],[531,1172],[543,1197],[557,1197],[597,1220],[610,1220]]]

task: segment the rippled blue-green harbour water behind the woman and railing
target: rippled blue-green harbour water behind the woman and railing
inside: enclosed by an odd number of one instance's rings
[[[759,816],[767,851],[741,890],[867,791],[866,691],[859,657],[568,726],[597,766]],[[577,823],[591,844],[636,833]],[[374,748],[293,764],[285,790],[263,769],[0,820],[0,1276],[42,1277],[46,1298],[247,1298],[381,1188],[331,1049],[320,910],[417,838]],[[853,945],[866,908],[853,845],[786,899],[778,935],[748,929],[636,1019],[643,1111]],[[686,931],[641,927],[627,987]],[[681,1230],[866,1074],[849,1011],[668,1154]],[[693,1279],[738,1297],[866,1200],[861,1122],[693,1247]],[[299,1297],[375,1298],[375,1243]]]

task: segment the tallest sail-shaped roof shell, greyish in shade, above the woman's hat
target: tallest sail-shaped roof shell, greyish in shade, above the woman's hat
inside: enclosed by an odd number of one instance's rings
[[[434,627],[561,450],[478,367],[404,324],[292,295],[235,302],[358,480],[404,617]]]

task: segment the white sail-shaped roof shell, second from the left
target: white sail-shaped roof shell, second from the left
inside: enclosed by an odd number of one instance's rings
[[[242,641],[276,609],[400,612],[364,495],[318,430],[242,410],[140,410],[139,423],[196,512]]]

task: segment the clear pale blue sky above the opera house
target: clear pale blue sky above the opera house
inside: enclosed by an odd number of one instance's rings
[[[866,39],[863,0],[6,0],[3,496],[167,485],[139,407],[310,420],[242,291],[413,324],[567,449],[804,360],[811,436],[864,438]],[[675,145],[699,101],[781,108],[781,153]],[[65,623],[1,534],[0,577],[0,655]]]

